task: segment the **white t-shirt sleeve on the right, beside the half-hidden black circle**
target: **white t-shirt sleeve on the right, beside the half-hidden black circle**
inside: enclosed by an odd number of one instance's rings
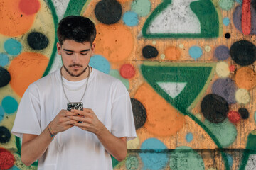
[[[117,88],[116,98],[112,103],[111,133],[116,137],[127,137],[127,141],[137,137],[132,104],[129,93],[124,86]]]

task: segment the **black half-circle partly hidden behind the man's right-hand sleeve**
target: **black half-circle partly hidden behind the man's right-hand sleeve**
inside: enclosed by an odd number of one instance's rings
[[[131,98],[135,128],[141,128],[146,122],[146,109],[137,99]]]

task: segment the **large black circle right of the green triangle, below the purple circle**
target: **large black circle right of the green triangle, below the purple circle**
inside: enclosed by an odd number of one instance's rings
[[[227,118],[228,102],[217,94],[208,94],[203,98],[201,111],[211,123],[221,123]]]

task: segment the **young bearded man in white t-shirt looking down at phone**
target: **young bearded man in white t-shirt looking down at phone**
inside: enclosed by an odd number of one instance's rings
[[[23,95],[12,133],[22,137],[21,160],[40,169],[112,169],[127,140],[136,137],[127,89],[88,64],[95,50],[95,25],[82,16],[63,18],[58,54],[63,67],[34,82]],[[67,111],[82,102],[83,110]]]

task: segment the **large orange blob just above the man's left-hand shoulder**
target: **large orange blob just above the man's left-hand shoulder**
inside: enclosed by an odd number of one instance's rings
[[[9,67],[10,85],[16,94],[23,96],[29,84],[43,76],[48,62],[48,57],[36,52],[23,52],[12,60]]]

